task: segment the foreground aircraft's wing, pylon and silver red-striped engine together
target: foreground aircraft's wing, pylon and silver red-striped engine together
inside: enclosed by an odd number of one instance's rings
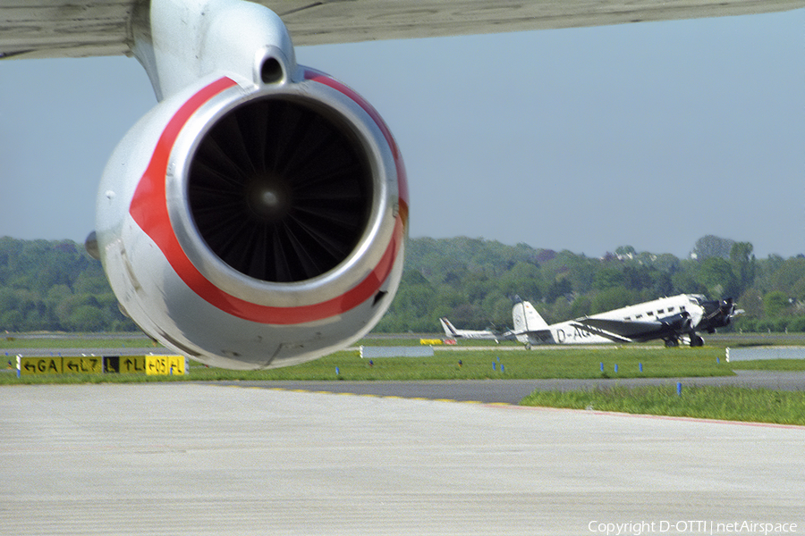
[[[139,60],[157,105],[106,165],[88,250],[151,337],[206,364],[256,369],[324,356],[371,330],[399,285],[408,229],[405,168],[391,131],[352,88],[297,64],[293,43],[802,6],[25,0],[0,3],[0,58]]]

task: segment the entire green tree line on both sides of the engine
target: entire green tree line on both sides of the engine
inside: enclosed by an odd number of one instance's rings
[[[758,259],[749,242],[706,236],[685,258],[617,247],[603,258],[496,240],[410,239],[397,296],[378,332],[512,323],[513,297],[561,322],[680,293],[733,297],[734,329],[805,331],[805,255]],[[71,240],[0,238],[0,330],[134,331],[100,262]]]

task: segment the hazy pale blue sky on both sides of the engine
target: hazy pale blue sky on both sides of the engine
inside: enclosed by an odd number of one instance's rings
[[[805,10],[297,49],[366,96],[411,236],[687,255],[805,253]],[[0,236],[83,240],[112,149],[156,104],[130,58],[0,62]]]

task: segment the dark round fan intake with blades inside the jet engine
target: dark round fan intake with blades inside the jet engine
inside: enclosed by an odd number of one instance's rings
[[[193,222],[234,270],[268,282],[304,281],[343,262],[372,205],[369,156],[326,106],[263,96],[206,132],[187,181]]]

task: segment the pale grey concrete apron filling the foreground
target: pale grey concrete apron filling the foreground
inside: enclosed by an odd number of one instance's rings
[[[805,533],[805,427],[40,385],[0,388],[0,444],[7,536]]]

